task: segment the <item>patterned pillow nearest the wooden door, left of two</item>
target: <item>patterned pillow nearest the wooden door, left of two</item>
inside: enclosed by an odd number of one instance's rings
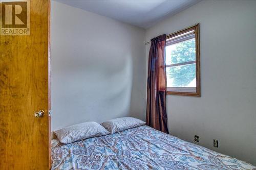
[[[61,143],[67,144],[91,137],[108,135],[110,132],[96,122],[86,122],[56,130],[54,134]]]

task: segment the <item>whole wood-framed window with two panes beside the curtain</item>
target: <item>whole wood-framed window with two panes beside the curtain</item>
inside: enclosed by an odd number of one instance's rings
[[[167,94],[200,96],[199,24],[166,36]]]

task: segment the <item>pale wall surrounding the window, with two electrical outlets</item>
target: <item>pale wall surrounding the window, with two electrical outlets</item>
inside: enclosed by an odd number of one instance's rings
[[[256,165],[256,1],[202,1],[146,30],[146,41],[198,22],[202,95],[167,95],[169,132]]]

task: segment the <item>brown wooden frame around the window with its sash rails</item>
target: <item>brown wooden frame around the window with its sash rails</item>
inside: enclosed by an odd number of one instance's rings
[[[196,63],[196,84],[197,84],[197,87],[195,88],[195,87],[167,87],[166,86],[166,94],[201,96],[199,23],[195,26],[188,27],[186,29],[183,29],[183,30],[177,31],[175,33],[167,35],[166,40],[169,39],[169,38],[173,38],[175,36],[178,36],[180,34],[192,31],[192,30],[195,30],[195,38],[196,38],[196,62],[195,61],[193,61],[193,62]],[[186,62],[186,63],[188,63],[188,62]],[[180,65],[180,63],[172,64],[172,65]],[[180,91],[182,89],[184,89],[184,91]],[[194,89],[196,89],[196,92],[189,92],[189,91],[193,91]]]

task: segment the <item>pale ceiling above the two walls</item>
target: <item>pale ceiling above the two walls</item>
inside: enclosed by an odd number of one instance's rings
[[[147,29],[200,0],[56,0]]]

